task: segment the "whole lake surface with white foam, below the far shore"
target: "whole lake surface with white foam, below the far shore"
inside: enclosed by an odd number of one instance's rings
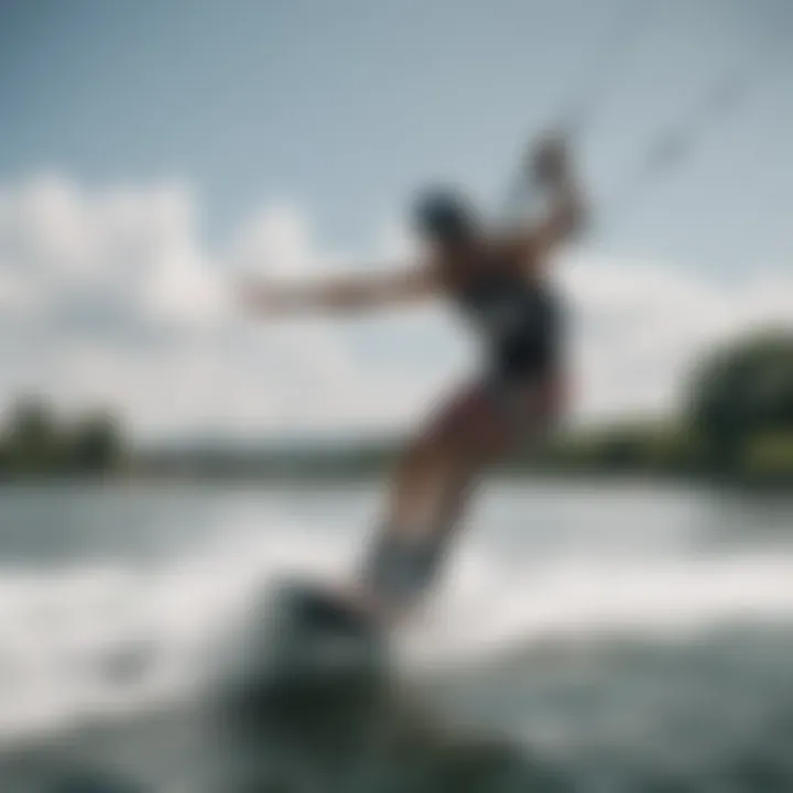
[[[343,575],[380,497],[370,485],[0,491],[0,789],[56,791],[89,769],[208,790],[241,762],[194,735],[229,627],[284,569]],[[793,497],[502,481],[468,523],[433,607],[400,639],[412,700],[453,729],[443,742],[405,728],[430,790],[463,790],[443,774],[472,785],[463,769],[477,751],[503,786],[466,790],[793,790]],[[258,735],[257,767],[272,762],[271,738]],[[295,765],[318,768],[316,749],[302,743]],[[334,790],[421,789],[399,787],[404,759],[398,773],[372,752],[359,754],[379,782],[348,774]]]

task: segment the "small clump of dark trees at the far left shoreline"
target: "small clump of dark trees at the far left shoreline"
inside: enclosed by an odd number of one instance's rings
[[[120,422],[91,411],[66,420],[39,398],[23,398],[0,425],[0,477],[111,474],[124,458]]]

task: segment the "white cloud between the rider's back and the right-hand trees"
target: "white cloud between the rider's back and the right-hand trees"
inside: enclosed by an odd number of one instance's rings
[[[793,327],[793,276],[772,269],[727,281],[670,263],[578,254],[562,281],[578,318],[584,415],[674,410],[713,345],[761,325]]]

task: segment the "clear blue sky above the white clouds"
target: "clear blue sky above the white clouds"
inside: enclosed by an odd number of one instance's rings
[[[361,249],[426,180],[493,203],[521,141],[586,85],[631,4],[647,1],[3,2],[0,178],[186,180],[210,239],[286,197],[328,245]],[[725,269],[785,254],[793,8],[648,8],[582,153],[596,193],[623,184],[714,79],[767,73],[615,218],[608,246]]]

